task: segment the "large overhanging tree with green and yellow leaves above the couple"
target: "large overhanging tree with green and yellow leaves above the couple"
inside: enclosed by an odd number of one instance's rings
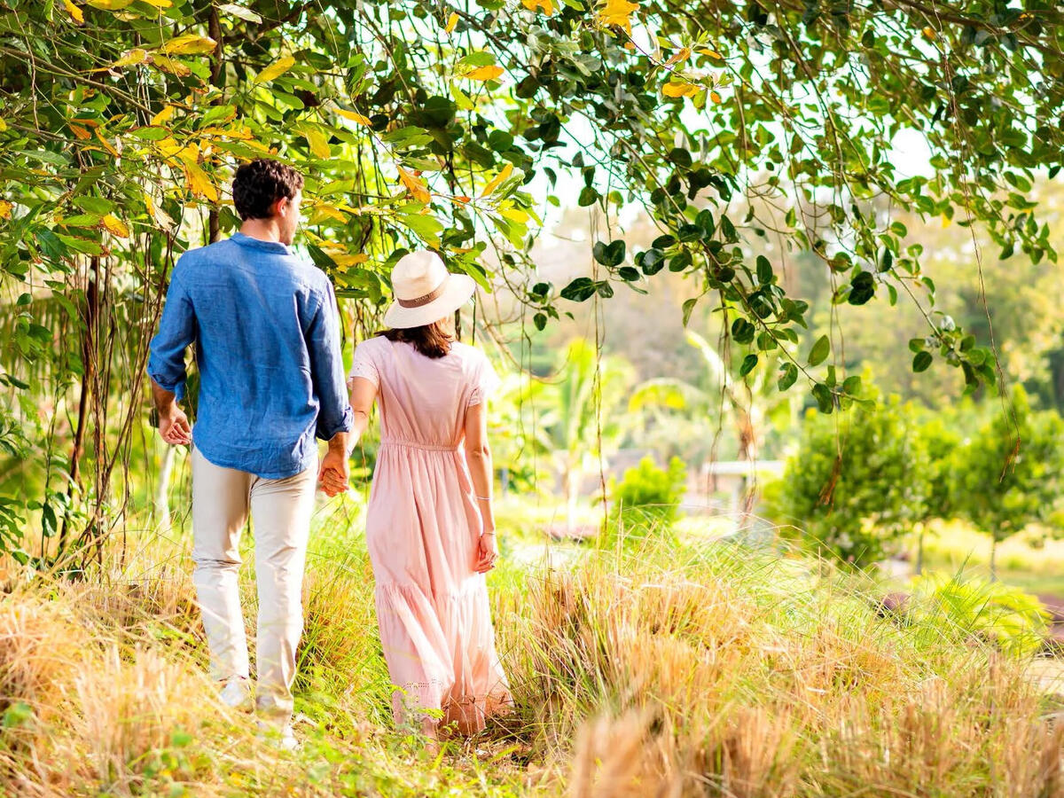
[[[826,412],[846,383],[826,377],[830,335],[827,348],[793,351],[805,307],[779,280],[785,253],[813,253],[853,305],[933,292],[895,211],[970,220],[1005,251],[1055,259],[1027,196],[1064,147],[1053,123],[1064,11],[1046,0],[0,10],[0,273],[37,344],[5,367],[3,392],[12,406],[23,392],[31,406],[55,397],[72,419],[41,444],[34,461],[47,476],[34,480],[69,486],[59,537],[84,562],[126,514],[129,486],[113,477],[127,471],[144,413],[145,344],[169,269],[235,226],[222,200],[242,160],[269,154],[307,173],[305,251],[358,304],[361,332],[411,247],[439,250],[485,290],[506,282],[536,328],[667,266],[696,281],[697,301],[729,309],[737,345],[779,349],[784,382],[801,378]],[[901,130],[925,136],[933,177],[900,173]],[[597,275],[545,283],[527,254],[535,174],[548,201],[598,205],[608,219],[641,203],[661,234],[630,252],[606,225],[592,243]],[[768,236],[778,260],[750,263],[743,239]],[[62,315],[50,326],[53,298]],[[941,361],[969,382],[994,379],[964,330],[930,318],[924,332],[921,368]],[[34,359],[48,365],[40,384],[19,378]],[[28,414],[18,422],[32,432]]]

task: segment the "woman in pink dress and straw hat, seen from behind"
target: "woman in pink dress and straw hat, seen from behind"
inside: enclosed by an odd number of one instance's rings
[[[366,514],[377,618],[397,724],[471,734],[511,702],[495,651],[484,575],[499,549],[492,513],[485,401],[498,378],[454,342],[449,319],[475,283],[433,252],[395,266],[390,329],[362,342],[351,367],[353,437],[377,401],[381,447]],[[435,713],[438,716],[438,713]]]

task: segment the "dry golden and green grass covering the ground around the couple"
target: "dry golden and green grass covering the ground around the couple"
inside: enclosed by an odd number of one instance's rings
[[[388,729],[358,546],[310,561],[295,757],[216,708],[172,562],[0,602],[0,794],[1064,796],[1060,704],[1028,663],[933,616],[899,628],[815,563],[649,542],[504,567],[518,710],[435,762]]]

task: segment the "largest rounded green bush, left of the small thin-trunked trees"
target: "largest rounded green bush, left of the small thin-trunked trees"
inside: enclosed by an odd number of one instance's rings
[[[924,517],[927,455],[912,405],[897,397],[848,415],[810,411],[786,465],[780,515],[819,554],[855,567],[882,560]]]

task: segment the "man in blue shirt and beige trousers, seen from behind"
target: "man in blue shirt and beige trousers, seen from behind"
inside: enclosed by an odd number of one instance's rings
[[[290,689],[315,485],[332,469],[326,492],[346,489],[352,421],[332,285],[289,250],[302,186],[298,171],[276,161],[237,169],[240,231],[181,256],[148,361],[160,434],[168,444],[194,444],[194,581],[212,671],[223,683],[222,700],[248,711],[237,573],[249,512],[254,521],[254,703],[286,747],[295,745]],[[195,431],[178,406],[193,343],[200,372]],[[320,469],[315,436],[329,442]]]

